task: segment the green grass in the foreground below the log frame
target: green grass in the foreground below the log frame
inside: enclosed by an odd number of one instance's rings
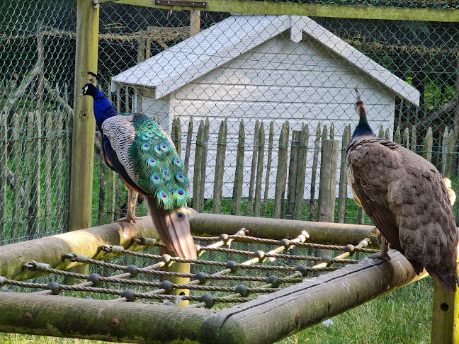
[[[419,344],[430,343],[433,280],[426,277],[319,323],[278,344]],[[0,343],[102,344],[98,340],[0,333]]]

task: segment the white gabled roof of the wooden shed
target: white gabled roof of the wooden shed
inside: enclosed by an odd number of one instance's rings
[[[309,35],[400,97],[419,105],[416,88],[307,16],[229,17],[114,76],[112,86],[155,88],[155,97],[162,98],[289,29],[291,40],[300,42],[303,33]]]

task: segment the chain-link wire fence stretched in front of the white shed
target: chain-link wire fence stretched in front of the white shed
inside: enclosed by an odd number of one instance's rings
[[[457,9],[447,1],[317,2]],[[458,23],[100,6],[101,88],[120,113],[142,111],[171,133],[196,210],[319,219],[331,140],[335,221],[369,223],[341,159],[356,125],[354,88],[376,134],[431,159],[458,189]],[[76,8],[0,4],[3,244],[68,229]],[[126,208],[97,138],[93,225]]]

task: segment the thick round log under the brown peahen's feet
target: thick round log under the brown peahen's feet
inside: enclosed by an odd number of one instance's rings
[[[370,299],[426,276],[416,275],[398,251],[391,260],[365,259],[237,307],[200,325],[202,343],[274,343]]]

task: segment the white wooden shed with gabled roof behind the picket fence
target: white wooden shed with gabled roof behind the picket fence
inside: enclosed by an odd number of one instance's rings
[[[333,123],[336,139],[341,139],[348,123],[356,126],[354,88],[361,91],[374,130],[379,125],[392,130],[395,98],[419,104],[419,91],[305,16],[229,17],[114,76],[112,87],[119,86],[137,88],[142,95],[137,110],[158,116],[166,130],[171,130],[174,117],[181,118],[183,130],[190,117],[195,123],[209,117],[209,185],[218,126],[227,119],[224,197],[232,194],[241,119],[247,135],[246,196],[256,120],[266,127],[273,121],[276,137],[286,120],[290,133],[305,122],[313,147],[318,122],[328,127]],[[275,151],[274,167],[276,161]],[[308,154],[308,166],[312,166],[312,154]],[[212,188],[205,190],[205,197],[212,197]],[[270,185],[269,197],[273,190]]]

